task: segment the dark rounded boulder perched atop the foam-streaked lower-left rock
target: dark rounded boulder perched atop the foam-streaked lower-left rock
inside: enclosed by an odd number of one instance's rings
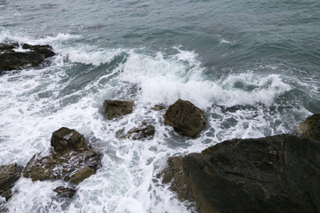
[[[55,152],[83,151],[88,149],[84,136],[76,130],[62,127],[52,133],[51,146]]]

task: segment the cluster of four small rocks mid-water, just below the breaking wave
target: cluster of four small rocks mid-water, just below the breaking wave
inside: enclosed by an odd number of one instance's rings
[[[133,100],[105,100],[103,103],[104,114],[109,120],[116,119],[124,116],[125,114],[131,114],[133,111]],[[154,110],[164,110],[164,106],[156,105]],[[178,99],[174,104],[169,106],[164,114],[164,124],[173,127],[178,134],[187,136],[190,138],[196,138],[196,136],[204,130],[205,127],[204,112],[186,100]],[[138,127],[124,132],[118,130],[116,132],[117,138],[132,138],[143,139],[153,138],[156,130],[155,127],[148,122],[142,122]]]

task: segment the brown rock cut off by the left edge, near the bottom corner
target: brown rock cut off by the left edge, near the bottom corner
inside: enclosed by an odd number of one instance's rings
[[[8,201],[12,197],[12,187],[20,178],[22,166],[17,163],[0,165],[0,195]]]

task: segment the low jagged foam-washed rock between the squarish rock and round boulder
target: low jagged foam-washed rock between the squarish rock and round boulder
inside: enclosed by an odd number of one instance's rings
[[[116,131],[117,138],[132,138],[137,139],[152,139],[156,133],[155,127],[148,124],[147,122],[142,122],[138,127],[132,128],[127,133],[123,130]]]

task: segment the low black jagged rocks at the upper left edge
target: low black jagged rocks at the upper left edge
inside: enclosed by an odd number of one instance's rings
[[[44,59],[54,56],[50,45],[22,44],[22,49],[28,51],[15,51],[18,43],[0,43],[0,74],[3,71],[20,69],[23,67],[36,67]]]

